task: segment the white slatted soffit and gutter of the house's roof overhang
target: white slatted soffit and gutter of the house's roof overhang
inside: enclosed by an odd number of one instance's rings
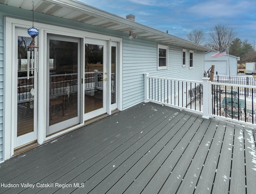
[[[0,0],[1,4],[22,8],[24,10],[32,10],[31,2],[31,0]],[[191,43],[146,25],[132,22],[126,18],[110,14],[75,0],[34,0],[34,11],[124,33],[129,33],[129,31],[132,30],[134,31],[134,35],[138,35],[139,37],[158,40],[166,44],[172,44],[187,49],[197,51],[211,50],[207,47]]]

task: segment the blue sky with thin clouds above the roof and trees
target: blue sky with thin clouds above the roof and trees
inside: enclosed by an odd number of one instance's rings
[[[87,5],[187,40],[193,30],[202,30],[206,41],[216,25],[232,28],[241,41],[256,46],[256,1],[254,0],[78,0]],[[254,43],[255,42],[255,43]]]

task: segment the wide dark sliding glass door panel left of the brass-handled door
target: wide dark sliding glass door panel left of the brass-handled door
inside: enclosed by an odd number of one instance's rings
[[[48,35],[48,125],[46,135],[79,123],[80,39]]]

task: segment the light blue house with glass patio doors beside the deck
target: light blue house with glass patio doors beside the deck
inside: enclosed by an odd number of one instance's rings
[[[138,24],[133,15],[74,0],[34,2],[38,52],[30,54],[37,64],[27,53],[31,1],[0,1],[0,161],[143,102],[144,73],[204,75],[210,49]]]

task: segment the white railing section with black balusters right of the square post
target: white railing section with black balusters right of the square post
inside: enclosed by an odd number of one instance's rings
[[[212,83],[212,114],[255,123],[255,86]]]

